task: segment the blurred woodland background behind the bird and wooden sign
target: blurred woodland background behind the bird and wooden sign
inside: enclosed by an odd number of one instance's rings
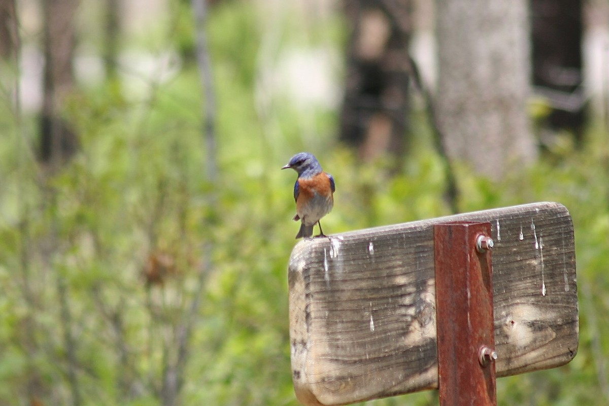
[[[563,203],[579,352],[498,403],[609,404],[607,0],[0,0],[0,31],[0,405],[297,405],[301,150],[329,234]]]

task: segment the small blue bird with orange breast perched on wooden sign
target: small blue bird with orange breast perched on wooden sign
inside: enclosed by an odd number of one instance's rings
[[[294,169],[298,173],[294,183],[294,200],[296,201],[296,215],[292,220],[300,220],[300,231],[296,239],[310,238],[313,227],[319,225],[319,235],[325,237],[322,223],[319,220],[328,214],[334,206],[334,178],[323,172],[317,158],[308,152],[300,152],[292,156],[289,163],[281,169]]]

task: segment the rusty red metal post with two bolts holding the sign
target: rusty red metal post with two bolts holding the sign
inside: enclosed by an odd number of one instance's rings
[[[440,406],[497,404],[490,223],[434,226]]]

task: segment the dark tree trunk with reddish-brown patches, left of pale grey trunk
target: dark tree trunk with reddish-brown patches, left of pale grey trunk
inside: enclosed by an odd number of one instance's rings
[[[412,0],[347,0],[351,36],[340,139],[364,159],[402,155],[408,112]]]

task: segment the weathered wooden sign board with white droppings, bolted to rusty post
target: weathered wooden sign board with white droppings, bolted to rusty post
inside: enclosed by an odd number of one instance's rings
[[[434,225],[490,222],[496,376],[568,363],[579,319],[571,217],[558,203],[303,240],[289,264],[292,379],[305,405],[438,387]]]

